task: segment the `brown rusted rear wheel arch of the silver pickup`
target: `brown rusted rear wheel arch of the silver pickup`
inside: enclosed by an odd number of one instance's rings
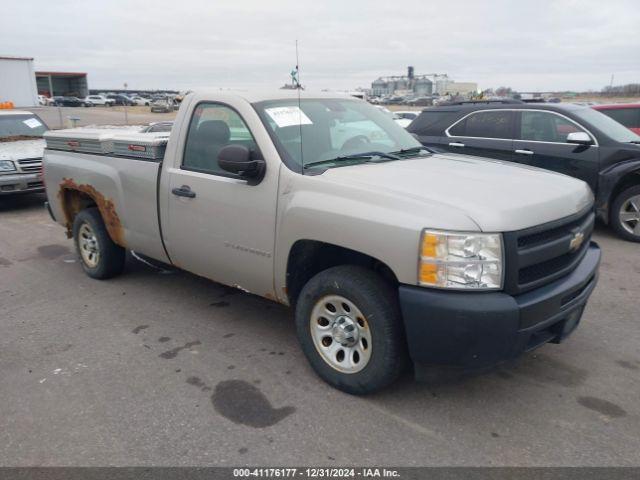
[[[125,247],[124,228],[113,201],[106,198],[92,185],[78,184],[72,178],[63,178],[58,191],[58,198],[65,215],[67,237],[71,238],[73,220],[78,212],[87,206],[87,197],[98,207],[111,240],[121,247]]]

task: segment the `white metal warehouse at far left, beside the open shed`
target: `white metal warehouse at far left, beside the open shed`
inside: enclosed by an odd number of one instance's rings
[[[33,58],[0,55],[0,102],[16,107],[38,105]]]

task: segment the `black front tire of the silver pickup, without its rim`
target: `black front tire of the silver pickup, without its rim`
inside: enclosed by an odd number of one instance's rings
[[[328,295],[348,299],[366,318],[371,353],[368,363],[355,373],[331,366],[314,343],[311,315],[316,304]],[[392,384],[405,369],[406,342],[397,291],[372,270],[342,265],[318,273],[300,292],[295,318],[307,360],[324,381],[339,390],[354,395],[373,393]]]

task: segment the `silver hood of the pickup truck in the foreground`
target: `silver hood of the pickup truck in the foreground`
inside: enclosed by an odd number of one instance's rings
[[[464,214],[481,231],[507,232],[573,215],[593,203],[589,186],[575,178],[482,157],[434,154],[331,168],[322,176],[368,195],[424,203]],[[388,205],[393,208],[393,205]],[[425,210],[428,212],[428,210]],[[424,225],[434,227],[437,225]]]

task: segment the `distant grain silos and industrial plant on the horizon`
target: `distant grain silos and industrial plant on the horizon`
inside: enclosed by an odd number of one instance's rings
[[[371,83],[371,94],[375,97],[385,95],[424,96],[468,95],[475,93],[478,84],[474,82],[454,82],[446,73],[427,73],[415,75],[413,67],[407,68],[407,75],[380,77]]]

